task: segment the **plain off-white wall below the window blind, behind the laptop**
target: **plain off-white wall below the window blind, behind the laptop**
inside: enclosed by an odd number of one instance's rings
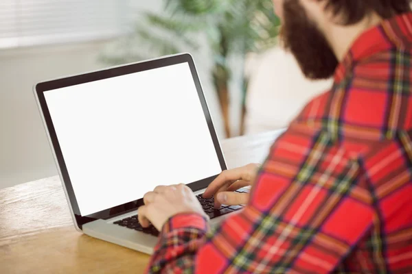
[[[132,0],[137,12],[160,10],[162,0]],[[106,42],[0,50],[0,189],[57,174],[32,92],[34,83],[99,69]],[[194,55],[218,134],[220,110],[207,71],[207,49]]]

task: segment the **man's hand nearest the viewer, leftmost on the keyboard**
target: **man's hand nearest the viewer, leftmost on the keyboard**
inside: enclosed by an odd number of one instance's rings
[[[152,223],[161,231],[171,216],[183,212],[196,212],[209,218],[192,190],[185,184],[157,186],[143,197],[144,206],[137,210],[139,222],[143,227]]]

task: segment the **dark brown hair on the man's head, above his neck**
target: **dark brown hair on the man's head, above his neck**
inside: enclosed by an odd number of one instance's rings
[[[322,0],[326,9],[338,16],[339,23],[352,25],[360,22],[367,14],[375,12],[384,19],[411,11],[412,0]]]

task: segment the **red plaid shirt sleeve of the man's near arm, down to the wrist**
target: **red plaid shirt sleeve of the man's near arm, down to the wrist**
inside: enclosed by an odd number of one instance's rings
[[[361,162],[295,125],[271,148],[249,204],[209,231],[197,214],[163,227],[148,273],[330,273],[373,223]]]

